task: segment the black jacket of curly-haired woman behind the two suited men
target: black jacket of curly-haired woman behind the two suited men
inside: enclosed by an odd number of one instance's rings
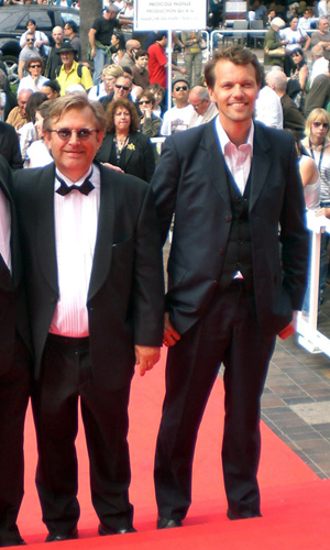
[[[111,157],[113,134],[107,133],[96,158],[109,163]],[[141,132],[130,133],[130,142],[122,153],[121,168],[125,174],[132,174],[150,183],[155,170],[155,155],[150,139]]]

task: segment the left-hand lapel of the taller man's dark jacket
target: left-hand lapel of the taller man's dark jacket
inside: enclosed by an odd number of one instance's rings
[[[220,150],[218,136],[215,130],[215,119],[205,124],[205,133],[200,142],[200,146],[206,150],[209,180],[217,188],[220,199],[226,207],[231,211],[230,196],[228,189],[228,176],[224,164],[224,158]]]

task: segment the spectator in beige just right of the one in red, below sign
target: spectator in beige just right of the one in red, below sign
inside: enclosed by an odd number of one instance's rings
[[[197,86],[201,84],[201,40],[202,34],[198,31],[186,31],[182,32],[182,42],[185,46],[185,67],[186,67],[186,78],[189,86]]]

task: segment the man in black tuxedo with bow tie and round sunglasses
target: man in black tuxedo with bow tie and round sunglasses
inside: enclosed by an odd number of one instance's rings
[[[153,196],[94,163],[105,111],[84,96],[52,101],[54,164],[14,175],[35,351],[36,485],[46,541],[77,538],[77,405],[99,534],[134,531],[128,404],[134,364],[160,356],[162,248]]]

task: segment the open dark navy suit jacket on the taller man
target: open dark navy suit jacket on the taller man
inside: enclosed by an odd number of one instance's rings
[[[167,309],[184,333],[212,299],[232,220],[215,121],[166,140],[152,187],[163,240],[175,211]],[[273,338],[290,321],[292,310],[301,307],[308,233],[294,140],[260,123],[251,166],[250,228],[256,314],[265,338]]]

